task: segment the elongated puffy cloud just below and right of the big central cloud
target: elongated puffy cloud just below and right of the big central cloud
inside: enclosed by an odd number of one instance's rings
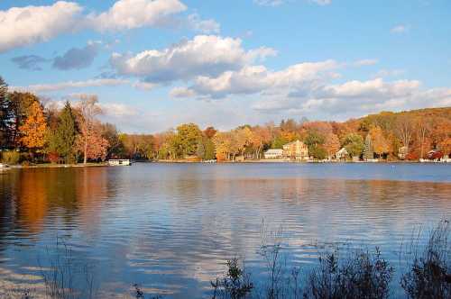
[[[280,71],[271,71],[263,66],[245,66],[236,71],[226,71],[218,77],[196,77],[192,86],[173,89],[170,95],[221,98],[227,95],[257,94],[273,89],[300,92],[306,88],[320,86],[326,78],[336,77],[336,68],[339,68],[339,65],[334,60],[299,63]]]

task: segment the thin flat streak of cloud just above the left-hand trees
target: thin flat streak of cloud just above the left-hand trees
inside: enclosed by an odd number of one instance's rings
[[[55,84],[37,84],[31,86],[11,86],[11,90],[31,91],[35,93],[54,92],[71,88],[84,88],[95,86],[120,86],[128,84],[128,80],[123,79],[91,79],[86,81],[68,81]]]

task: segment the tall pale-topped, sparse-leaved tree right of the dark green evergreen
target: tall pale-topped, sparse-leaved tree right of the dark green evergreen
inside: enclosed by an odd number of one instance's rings
[[[81,145],[81,151],[83,153],[83,163],[87,163],[87,150],[89,147],[89,141],[99,137],[99,142],[105,143],[103,139],[95,131],[95,122],[98,114],[102,113],[102,109],[98,105],[98,100],[96,95],[81,95],[80,101],[78,103],[78,127],[81,133],[79,137],[78,145]],[[82,144],[80,144],[80,142]]]

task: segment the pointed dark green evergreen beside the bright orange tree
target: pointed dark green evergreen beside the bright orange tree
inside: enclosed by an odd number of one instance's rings
[[[58,127],[51,132],[48,151],[57,152],[60,157],[68,162],[75,162],[74,144],[78,134],[78,127],[75,115],[66,102],[60,113]]]

